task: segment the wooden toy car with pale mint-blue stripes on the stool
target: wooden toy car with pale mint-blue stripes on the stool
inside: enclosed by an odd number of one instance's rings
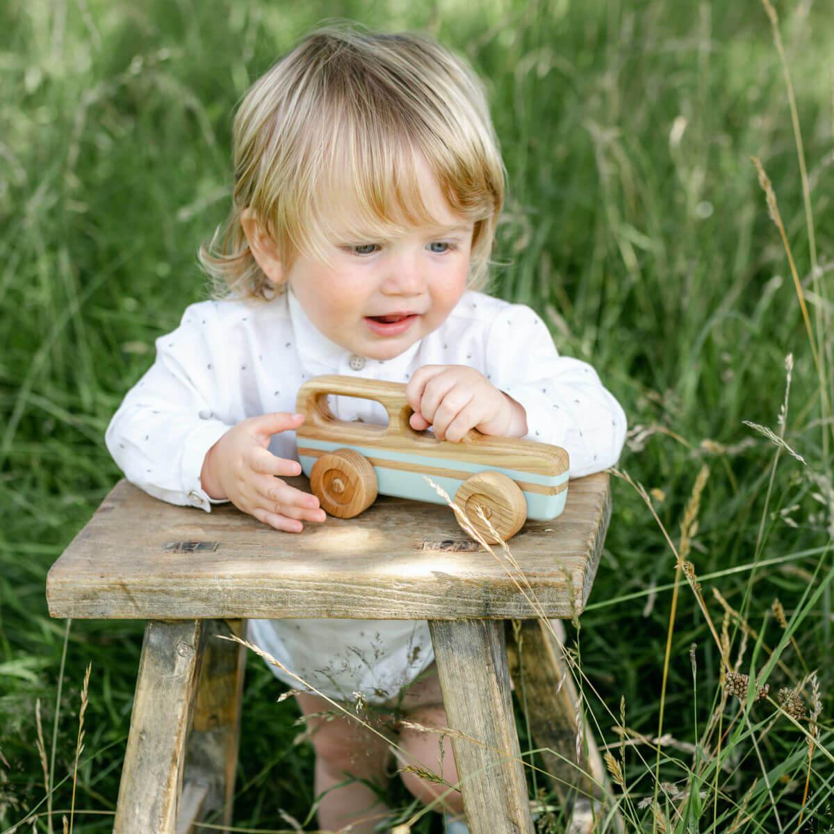
[[[478,517],[479,505],[505,541],[528,517],[550,520],[565,508],[569,460],[564,449],[474,429],[460,443],[438,440],[409,425],[413,409],[405,387],[336,374],[301,385],[295,408],[306,419],[296,432],[299,460],[326,512],[353,518],[378,494],[445,504],[424,475],[454,496],[491,544],[498,540]],[[374,399],[388,412],[389,423],[337,420],[328,394]]]

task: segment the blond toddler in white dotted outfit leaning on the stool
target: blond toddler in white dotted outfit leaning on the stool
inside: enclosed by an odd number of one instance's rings
[[[480,291],[503,200],[484,88],[465,62],[422,35],[309,35],[235,117],[231,214],[199,253],[214,300],[157,339],[108,427],[128,480],[206,512],[231,501],[284,534],[326,523],[319,500],[284,480],[301,471],[295,397],[319,374],[407,384],[411,426],[440,439],[475,427],[560,445],[573,477],[615,464],[625,414],[595,370],[560,356],[532,309]],[[387,419],[370,400],[329,404],[339,420]],[[445,726],[425,620],[251,620],[249,636],[325,696]],[[389,746],[355,721],[324,721],[324,698],[296,698],[319,826],[384,830]],[[437,739],[396,736],[410,763],[439,771],[440,759],[455,784]],[[403,779],[425,802],[444,790]],[[463,810],[456,791],[440,805]]]

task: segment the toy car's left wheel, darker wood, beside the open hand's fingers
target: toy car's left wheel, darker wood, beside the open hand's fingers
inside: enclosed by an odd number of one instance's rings
[[[352,519],[374,503],[376,473],[359,452],[337,449],[316,460],[310,471],[310,488],[326,513]]]

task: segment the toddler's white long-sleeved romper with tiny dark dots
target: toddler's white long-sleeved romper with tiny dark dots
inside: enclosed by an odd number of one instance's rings
[[[590,364],[560,356],[530,307],[471,290],[438,329],[394,359],[367,359],[334,344],[289,289],[267,302],[191,304],[156,349],[156,361],[125,395],[105,441],[133,484],[206,512],[221,503],[200,484],[208,450],[241,420],[294,412],[300,384],[320,374],[405,383],[425,364],[469,365],[524,406],[528,439],[567,450],[572,478],[614,465],[625,441],[623,409]],[[340,420],[387,421],[372,400],[330,397],[329,404]],[[269,450],[299,460],[293,431],[274,435]],[[334,699],[361,691],[381,703],[434,659],[425,620],[250,620],[249,635]]]

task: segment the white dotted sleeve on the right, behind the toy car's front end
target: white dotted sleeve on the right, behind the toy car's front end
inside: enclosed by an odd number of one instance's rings
[[[547,326],[526,304],[502,309],[487,339],[490,381],[524,406],[527,439],[567,450],[572,478],[615,465],[625,442],[625,412],[590,364],[560,356]]]

